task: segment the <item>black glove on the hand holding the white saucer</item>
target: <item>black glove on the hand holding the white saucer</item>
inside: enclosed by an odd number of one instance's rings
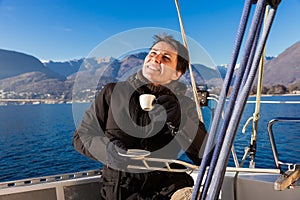
[[[125,154],[127,148],[118,139],[110,141],[106,146],[106,158],[109,167],[118,170],[125,170],[128,165],[128,158],[119,155],[119,153]]]

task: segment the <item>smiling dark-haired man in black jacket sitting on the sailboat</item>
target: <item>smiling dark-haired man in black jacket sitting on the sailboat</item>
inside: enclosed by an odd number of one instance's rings
[[[74,148],[103,163],[103,199],[170,199],[194,185],[184,171],[129,169],[138,161],[122,156],[140,149],[154,158],[177,159],[183,150],[190,162],[201,162],[206,128],[195,102],[185,96],[186,85],[178,80],[188,68],[188,51],[171,35],[154,39],[142,69],[125,81],[105,85],[74,132]],[[141,108],[142,94],[155,95],[152,110]]]

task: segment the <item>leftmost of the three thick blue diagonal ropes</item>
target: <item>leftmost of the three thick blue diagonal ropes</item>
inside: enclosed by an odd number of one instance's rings
[[[237,31],[237,37],[235,39],[234,47],[233,47],[233,53],[232,53],[232,61],[227,69],[227,73],[224,79],[223,87],[220,93],[220,98],[219,98],[219,103],[216,108],[215,116],[212,121],[211,129],[208,135],[206,147],[204,150],[204,156],[199,168],[197,180],[194,186],[194,190],[192,193],[192,199],[196,200],[199,197],[200,194],[200,186],[204,178],[204,174],[206,171],[206,167],[209,166],[209,162],[211,159],[211,154],[210,152],[213,149],[214,141],[215,141],[215,135],[217,132],[217,129],[219,127],[220,120],[222,118],[222,112],[223,112],[223,107],[225,104],[225,100],[227,97],[227,93],[232,81],[233,73],[234,73],[234,68],[237,62],[238,54],[241,48],[242,40],[244,37],[244,33],[246,30],[246,25],[249,19],[249,13],[252,5],[252,0],[246,0],[244,3],[244,8],[242,12],[242,16],[240,19],[240,24],[239,24],[239,29]]]

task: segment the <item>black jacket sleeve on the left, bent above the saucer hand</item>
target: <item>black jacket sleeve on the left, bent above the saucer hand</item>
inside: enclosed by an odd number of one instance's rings
[[[79,126],[74,131],[73,147],[81,154],[100,162],[106,160],[105,125],[110,95],[109,86],[104,87],[90,108],[85,112]]]

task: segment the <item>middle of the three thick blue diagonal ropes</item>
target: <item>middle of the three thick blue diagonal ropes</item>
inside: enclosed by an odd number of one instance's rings
[[[256,32],[257,32],[257,29],[259,27],[259,22],[260,22],[259,20],[261,18],[261,13],[264,10],[265,5],[266,5],[266,0],[258,1],[256,9],[255,9],[252,24],[251,24],[250,29],[249,29],[249,35],[248,35],[248,38],[247,38],[247,41],[246,41],[246,44],[245,44],[244,55],[242,56],[241,65],[239,67],[238,74],[236,76],[236,79],[235,79],[235,82],[234,82],[234,85],[233,85],[233,89],[232,89],[231,94],[230,94],[230,99],[229,99],[228,105],[226,107],[224,121],[223,121],[221,129],[219,131],[220,133],[218,135],[217,144],[215,146],[215,150],[213,152],[210,168],[209,168],[209,171],[208,171],[208,174],[207,174],[207,177],[206,177],[205,184],[203,186],[203,192],[201,193],[201,200],[206,198],[206,195],[208,193],[208,189],[211,185],[211,182],[213,181],[212,177],[213,177],[215,171],[218,172],[222,169],[220,167],[217,168],[216,163],[219,160],[220,152],[221,152],[223,146],[229,146],[230,145],[230,147],[231,147],[231,144],[228,144],[228,143],[224,142],[224,138],[226,136],[226,131],[228,129],[228,125],[230,124],[230,121],[232,121],[232,119],[233,120],[237,119],[237,118],[232,117],[232,113],[233,113],[233,110],[236,107],[236,105],[239,103],[238,101],[236,101],[237,96],[238,96],[238,92],[239,92],[239,89],[241,87],[241,83],[242,83],[244,73],[246,71],[247,63],[248,63],[248,60],[249,60],[249,55],[251,53],[251,50],[253,50],[252,46],[253,46],[254,38],[256,36]],[[223,144],[225,144],[225,145],[223,145]],[[225,162],[223,163],[223,165],[226,165],[226,164],[227,163],[225,163]],[[218,181],[222,181],[222,180],[218,180]],[[216,191],[216,192],[218,192],[218,191]]]

